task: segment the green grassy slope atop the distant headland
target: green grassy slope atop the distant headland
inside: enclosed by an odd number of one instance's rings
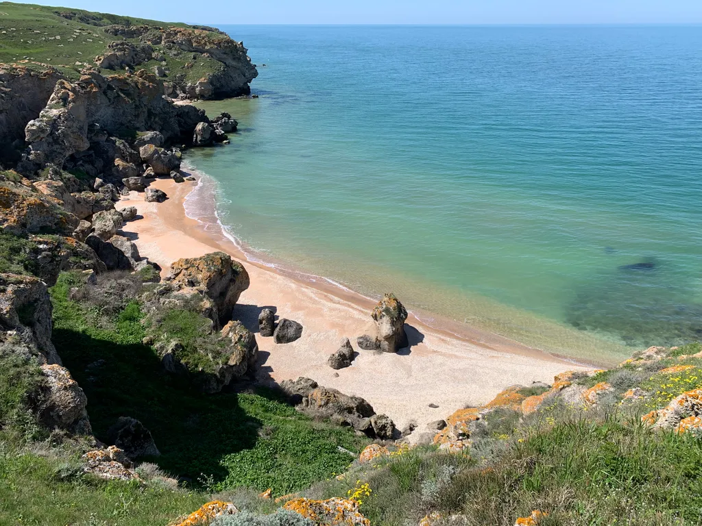
[[[78,19],[67,20],[58,13],[84,13],[98,20],[90,24]],[[98,24],[98,25],[95,25]],[[0,3],[0,62],[32,60],[52,65],[71,79],[77,79],[80,69],[86,65],[95,66],[93,59],[105,52],[112,41],[122,40],[105,33],[100,25],[150,25],[154,27],[190,27],[186,24],[157,22],[105,13],[90,13],[72,8],[53,8],[32,4]],[[59,36],[60,39],[55,39]],[[131,39],[138,43],[138,39]],[[161,51],[154,46],[154,53]],[[220,63],[211,58],[199,56],[192,59],[192,53],[179,52],[176,56],[166,56],[166,62],[151,60],[139,68],[150,69],[163,65],[171,69],[171,76],[184,73],[187,81],[197,81],[205,74],[215,71]],[[76,62],[80,62],[79,65]],[[191,69],[185,69],[186,62],[194,62]],[[102,70],[105,74],[119,73]],[[167,79],[166,79],[167,80]]]

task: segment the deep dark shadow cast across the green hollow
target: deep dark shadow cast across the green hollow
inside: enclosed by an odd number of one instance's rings
[[[204,478],[220,482],[227,476],[221,459],[256,445],[262,424],[241,409],[237,393],[207,396],[190,389],[164,372],[149,346],[67,329],[55,329],[53,343],[85,391],[93,431],[105,443],[117,418],[138,419],[161,451],[154,461],[195,485]]]

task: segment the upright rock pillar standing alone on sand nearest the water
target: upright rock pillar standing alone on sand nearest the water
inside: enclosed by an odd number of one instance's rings
[[[376,322],[376,334],[359,337],[361,349],[396,353],[409,345],[404,332],[407,309],[394,294],[385,294],[373,309],[371,317]]]

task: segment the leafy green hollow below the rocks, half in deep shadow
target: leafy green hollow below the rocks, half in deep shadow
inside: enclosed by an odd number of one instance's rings
[[[145,335],[138,304],[112,326],[68,298],[74,274],[51,290],[53,342],[88,397],[95,435],[105,440],[118,417],[139,419],[161,451],[152,459],[192,487],[272,487],[280,495],[343,471],[368,442],[352,431],[313,422],[274,393],[203,395],[164,372]],[[192,317],[192,316],[191,316]],[[182,318],[178,318],[183,321]],[[100,361],[104,360],[104,361]]]

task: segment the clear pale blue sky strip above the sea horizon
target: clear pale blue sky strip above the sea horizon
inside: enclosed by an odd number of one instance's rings
[[[213,25],[702,23],[702,0],[46,0],[39,3]]]

